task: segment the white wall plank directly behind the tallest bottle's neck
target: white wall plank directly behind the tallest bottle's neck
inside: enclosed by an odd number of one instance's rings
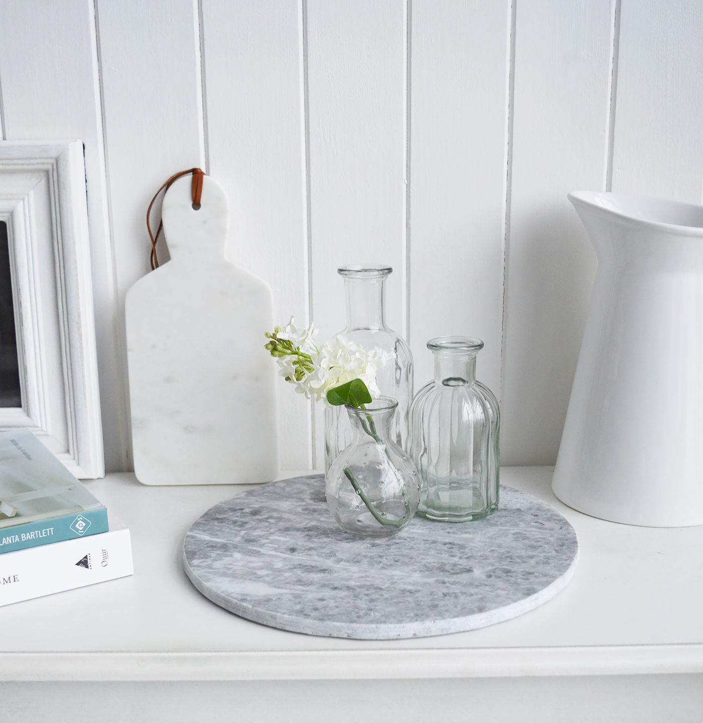
[[[320,338],[346,325],[337,268],[393,267],[387,321],[403,331],[403,0],[307,1],[312,308]],[[317,410],[318,465],[323,422]]]

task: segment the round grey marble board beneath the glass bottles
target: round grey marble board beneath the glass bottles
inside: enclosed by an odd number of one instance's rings
[[[534,609],[568,583],[579,555],[554,508],[500,487],[483,520],[415,518],[393,537],[339,528],[321,474],[286,479],[210,508],[185,536],[195,587],[273,628],[388,640],[457,633]]]

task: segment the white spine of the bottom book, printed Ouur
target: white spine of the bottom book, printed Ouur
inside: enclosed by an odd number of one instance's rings
[[[0,555],[0,607],[132,575],[129,529]]]

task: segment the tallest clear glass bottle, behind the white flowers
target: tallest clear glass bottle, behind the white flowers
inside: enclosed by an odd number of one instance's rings
[[[391,437],[406,449],[412,401],[412,354],[404,338],[385,324],[385,280],[390,266],[358,265],[339,268],[346,288],[346,329],[339,334],[362,345],[365,351],[385,352],[386,362],[376,372],[382,395],[398,401]],[[352,426],[343,407],[325,409],[325,471],[348,447]]]

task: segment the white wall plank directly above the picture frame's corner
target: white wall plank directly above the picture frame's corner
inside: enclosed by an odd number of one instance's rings
[[[116,351],[118,305],[93,3],[4,3],[0,75],[7,140],[80,138],[85,145],[105,466],[127,469],[126,390]]]

